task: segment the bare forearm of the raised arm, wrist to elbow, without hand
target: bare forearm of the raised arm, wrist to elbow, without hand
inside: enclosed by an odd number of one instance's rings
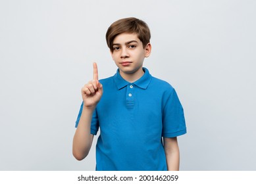
[[[91,118],[93,109],[83,108],[76,133],[73,139],[72,152],[77,160],[82,160],[88,155],[93,135],[91,135]]]

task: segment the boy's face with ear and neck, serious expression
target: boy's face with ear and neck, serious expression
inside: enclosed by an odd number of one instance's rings
[[[143,60],[145,57],[149,57],[150,53],[150,43],[143,48],[143,43],[137,34],[124,33],[115,37],[111,56],[122,77],[127,76],[129,78],[132,76],[136,79],[136,76],[140,78],[143,74]]]

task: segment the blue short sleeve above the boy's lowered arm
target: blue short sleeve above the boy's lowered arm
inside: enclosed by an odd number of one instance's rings
[[[175,89],[166,95],[163,108],[163,137],[177,137],[185,134],[186,122],[184,110]]]

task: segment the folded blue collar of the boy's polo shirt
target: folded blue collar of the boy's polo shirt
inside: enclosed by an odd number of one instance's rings
[[[149,74],[149,70],[147,70],[147,68],[143,67],[142,69],[144,71],[143,76],[140,79],[134,81],[134,84],[142,89],[146,89],[151,81],[152,76],[151,74]],[[126,85],[130,83],[129,81],[124,80],[122,76],[120,76],[119,69],[116,70],[116,74],[115,76],[113,76],[113,78],[116,83],[116,87],[118,89],[122,89],[123,87],[126,87]]]

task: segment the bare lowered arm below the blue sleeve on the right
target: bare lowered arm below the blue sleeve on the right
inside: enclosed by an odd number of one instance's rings
[[[165,137],[164,147],[168,171],[178,171],[180,168],[180,150],[177,137]]]

